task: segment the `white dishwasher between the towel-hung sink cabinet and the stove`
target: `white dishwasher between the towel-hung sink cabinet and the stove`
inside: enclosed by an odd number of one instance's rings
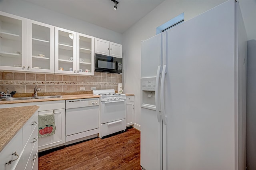
[[[99,99],[66,100],[66,145],[99,133]]]

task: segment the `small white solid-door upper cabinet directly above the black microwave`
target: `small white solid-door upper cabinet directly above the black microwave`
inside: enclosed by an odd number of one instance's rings
[[[122,58],[122,45],[95,38],[95,53]]]

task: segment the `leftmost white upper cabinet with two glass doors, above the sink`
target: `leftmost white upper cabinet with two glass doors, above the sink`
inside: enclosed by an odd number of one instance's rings
[[[0,69],[54,72],[54,26],[0,14]]]

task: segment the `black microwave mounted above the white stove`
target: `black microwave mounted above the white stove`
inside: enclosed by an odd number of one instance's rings
[[[95,71],[122,73],[123,59],[102,54],[95,54]]]

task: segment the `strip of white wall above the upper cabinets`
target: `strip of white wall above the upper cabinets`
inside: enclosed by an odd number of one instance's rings
[[[0,11],[122,44],[122,34],[23,0],[0,1]]]

